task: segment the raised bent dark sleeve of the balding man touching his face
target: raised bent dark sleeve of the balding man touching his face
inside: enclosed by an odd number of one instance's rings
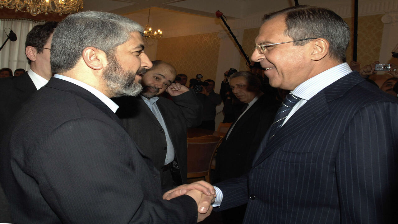
[[[173,96],[173,102],[181,110],[187,128],[196,127],[202,122],[203,104],[195,96],[193,89],[178,96]]]

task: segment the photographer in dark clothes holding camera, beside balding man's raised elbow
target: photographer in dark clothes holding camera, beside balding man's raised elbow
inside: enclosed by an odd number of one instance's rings
[[[204,82],[194,81],[191,79],[189,83],[195,89],[196,96],[203,104],[202,124],[197,128],[215,130],[216,106],[221,103],[221,96],[214,92],[215,81],[206,79]],[[199,85],[200,86],[199,86]]]

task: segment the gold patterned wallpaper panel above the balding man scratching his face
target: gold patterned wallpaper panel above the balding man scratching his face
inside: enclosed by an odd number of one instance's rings
[[[203,79],[216,79],[220,39],[218,33],[205,33],[158,40],[156,60],[172,64],[177,74],[184,73],[189,79],[202,74]]]

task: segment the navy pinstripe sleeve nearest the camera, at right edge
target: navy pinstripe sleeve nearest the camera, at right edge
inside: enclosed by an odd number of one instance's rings
[[[371,104],[345,130],[336,156],[341,223],[396,222],[397,115],[397,103]]]

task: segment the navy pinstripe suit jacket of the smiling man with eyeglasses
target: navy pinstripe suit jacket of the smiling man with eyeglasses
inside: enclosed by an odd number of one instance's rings
[[[244,223],[394,223],[398,100],[350,73],[262,145],[245,176],[219,183]],[[395,216],[395,217],[394,217]]]

